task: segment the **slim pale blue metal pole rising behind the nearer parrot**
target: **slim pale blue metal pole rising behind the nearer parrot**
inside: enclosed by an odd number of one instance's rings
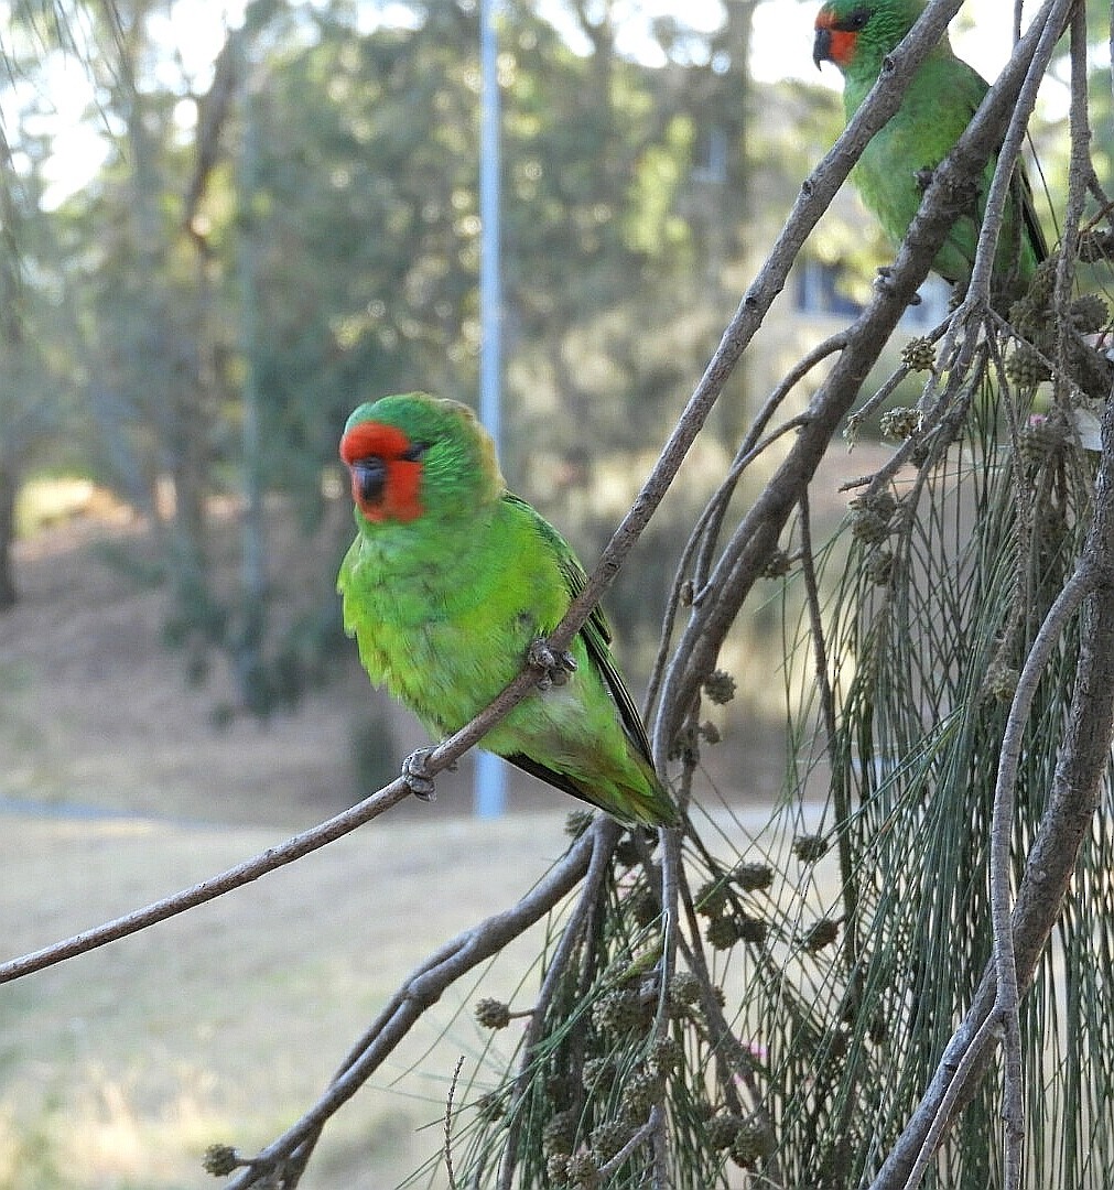
[[[499,262],[499,77],[495,12],[480,4],[480,419],[500,447],[502,430],[502,284]],[[477,818],[499,818],[507,802],[507,768],[476,753],[472,804]]]

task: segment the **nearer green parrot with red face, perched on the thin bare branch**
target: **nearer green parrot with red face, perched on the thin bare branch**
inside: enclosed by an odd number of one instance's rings
[[[359,406],[340,439],[356,539],[337,580],[344,626],[376,684],[433,735],[463,727],[522,669],[549,679],[483,746],[632,826],[677,826],[596,608],[565,657],[539,647],[584,584],[557,531],[512,495],[495,447],[456,401]],[[420,754],[419,754],[420,789]]]

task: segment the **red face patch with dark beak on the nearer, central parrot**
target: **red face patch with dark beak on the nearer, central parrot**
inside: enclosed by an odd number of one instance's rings
[[[340,439],[340,458],[352,477],[352,499],[374,524],[421,515],[418,489],[427,443],[411,441],[396,426],[361,421]]]

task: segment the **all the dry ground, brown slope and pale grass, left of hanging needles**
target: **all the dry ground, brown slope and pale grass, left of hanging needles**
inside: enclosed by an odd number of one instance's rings
[[[4,957],[187,887],[358,793],[351,733],[370,699],[358,671],[298,714],[214,731],[226,679],[186,684],[159,645],[164,591],[106,563],[105,541],[146,549],[111,508],[37,533],[19,550],[23,601],[0,618]],[[400,738],[423,735],[405,724]],[[521,895],[568,841],[565,800],[536,783],[525,798],[542,813],[488,823],[467,816],[467,771],[439,793],[0,988],[0,1190],[215,1185],[206,1145],[251,1151],[289,1125],[406,972]],[[536,950],[503,963],[505,990]],[[307,1186],[393,1186],[437,1152],[452,1067],[484,1040],[467,994],[340,1115]],[[406,1064],[420,1071],[394,1086]]]

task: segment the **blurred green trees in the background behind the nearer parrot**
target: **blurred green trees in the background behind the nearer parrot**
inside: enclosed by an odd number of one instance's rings
[[[620,6],[501,11],[503,462],[587,557],[838,123],[830,92],[787,83],[784,120],[752,127],[753,11],[727,6],[711,33],[649,21],[656,65],[617,48]],[[194,19],[186,0],[13,12],[0,605],[18,597],[23,481],[86,475],[150,519],[156,564],[119,560],[164,584],[186,672],[230,666],[226,713],[267,715],[339,641],[346,414],[418,387],[475,401],[478,7],[254,0],[200,64]],[[58,94],[86,79],[68,125]],[[99,162],[88,176],[76,145]],[[756,387],[733,384],[709,439],[725,457]],[[705,495],[696,475],[671,497],[646,557],[676,557]],[[229,507],[234,583],[214,569]],[[313,589],[268,564],[276,515],[313,551]],[[670,577],[647,568],[615,593],[631,652],[649,654]]]

